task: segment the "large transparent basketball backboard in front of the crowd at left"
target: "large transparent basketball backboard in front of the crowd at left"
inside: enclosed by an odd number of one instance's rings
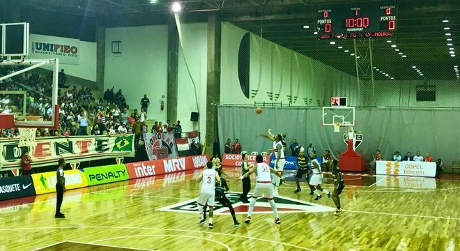
[[[57,128],[59,59],[0,62],[0,113],[13,114],[15,128]],[[2,116],[10,125],[10,116]]]

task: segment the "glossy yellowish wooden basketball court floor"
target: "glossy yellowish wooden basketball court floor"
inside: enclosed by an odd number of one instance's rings
[[[227,181],[240,192],[236,170],[227,169]],[[319,212],[280,211],[281,225],[271,213],[260,213],[250,225],[238,214],[242,225],[233,227],[222,213],[208,229],[195,213],[163,211],[199,194],[197,174],[185,172],[68,191],[62,220],[53,218],[54,194],[3,201],[0,250],[460,250],[456,176],[346,175],[345,211],[335,216],[332,199],[314,201],[307,188],[295,194],[292,175],[280,195]],[[331,188],[330,174],[325,182]]]

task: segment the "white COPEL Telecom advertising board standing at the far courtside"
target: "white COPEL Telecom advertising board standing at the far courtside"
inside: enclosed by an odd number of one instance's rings
[[[436,162],[377,161],[376,174],[434,177],[436,176]]]

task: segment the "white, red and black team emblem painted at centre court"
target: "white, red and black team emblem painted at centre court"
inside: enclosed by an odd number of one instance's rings
[[[226,192],[225,195],[229,198],[236,214],[245,214],[249,208],[249,204],[243,204],[240,201],[241,192]],[[313,204],[307,201],[292,199],[284,196],[275,197],[275,203],[278,213],[317,213],[317,212],[332,212],[335,208]],[[188,199],[177,204],[158,208],[158,211],[169,211],[178,213],[198,213],[197,199]],[[257,199],[254,213],[272,213],[270,204],[263,198]],[[214,202],[214,214],[230,214],[229,208],[220,204],[219,201]]]

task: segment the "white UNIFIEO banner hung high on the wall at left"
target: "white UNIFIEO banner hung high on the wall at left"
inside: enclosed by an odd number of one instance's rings
[[[29,59],[59,59],[59,63],[80,63],[80,40],[31,34]]]

